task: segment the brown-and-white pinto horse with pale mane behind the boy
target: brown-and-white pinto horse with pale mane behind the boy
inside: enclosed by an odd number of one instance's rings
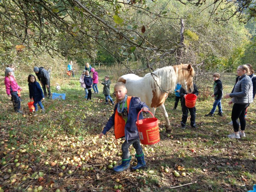
[[[179,83],[189,93],[193,92],[194,68],[190,64],[181,64],[156,69],[156,71],[139,77],[135,74],[126,74],[118,78],[117,82],[123,82],[128,96],[140,97],[145,102],[152,114],[159,108],[164,115],[167,132],[172,132],[168,114],[164,107],[164,101],[169,92],[173,92]]]

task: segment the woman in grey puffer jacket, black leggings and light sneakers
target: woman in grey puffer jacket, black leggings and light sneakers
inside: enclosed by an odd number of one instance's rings
[[[237,75],[239,76],[238,82],[234,86],[231,93],[226,94],[224,98],[232,98],[231,101],[229,101],[229,105],[234,103],[231,113],[231,119],[233,122],[234,127],[234,133],[228,135],[228,138],[237,138],[240,139],[241,137],[245,137],[245,125],[246,121],[244,118],[244,114],[246,111],[246,108],[252,103],[252,80],[247,75],[249,72],[249,68],[246,65],[240,65],[237,68]],[[239,123],[238,118],[240,121],[241,126],[241,132],[239,131]]]

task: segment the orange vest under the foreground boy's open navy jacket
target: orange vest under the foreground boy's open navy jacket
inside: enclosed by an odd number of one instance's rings
[[[127,113],[129,114],[129,107],[130,107],[130,101],[132,97],[128,96],[127,97]],[[125,128],[125,121],[121,115],[118,115],[117,108],[116,108],[116,113],[115,113],[115,137],[116,139],[119,139],[121,137],[124,137],[124,128]]]

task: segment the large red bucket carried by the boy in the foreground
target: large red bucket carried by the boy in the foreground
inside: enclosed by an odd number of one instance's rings
[[[139,120],[139,115],[142,112],[138,113],[136,126],[139,131],[140,142],[143,145],[153,145],[160,141],[159,128],[158,128],[158,119],[148,111],[153,118],[146,118]]]

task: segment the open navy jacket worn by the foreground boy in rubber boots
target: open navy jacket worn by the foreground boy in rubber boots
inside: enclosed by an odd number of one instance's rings
[[[139,97],[132,97],[130,101],[129,111],[128,111],[128,118],[127,122],[124,127],[124,133],[125,133],[125,140],[133,140],[139,138],[139,132],[136,127],[136,121],[138,113],[140,112],[141,108],[148,106],[140,101]],[[117,104],[114,108],[114,113],[112,116],[108,119],[108,123],[104,127],[102,133],[105,135],[106,132],[108,132],[111,127],[115,124],[115,113],[116,113]],[[142,113],[140,113],[139,119],[143,119]]]

